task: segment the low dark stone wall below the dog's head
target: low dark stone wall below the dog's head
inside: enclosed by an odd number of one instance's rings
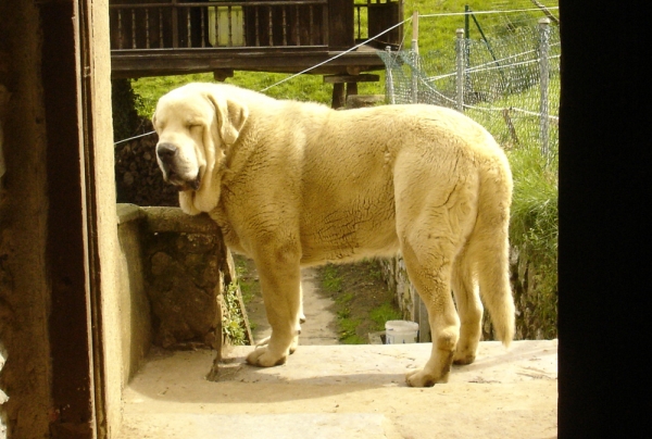
[[[130,253],[125,255],[130,280],[124,294],[131,298],[129,303],[139,303],[139,311],[130,308],[133,315],[151,322],[138,327],[134,321],[124,322],[128,329],[123,338],[136,337],[147,346],[147,335],[134,334],[149,329],[151,341],[161,348],[221,351],[230,342],[222,330],[223,319],[229,318],[224,293],[239,290],[231,287],[237,285],[235,266],[217,225],[208,215],[190,216],[178,208],[118,204],[118,210],[121,244],[124,253]],[[139,285],[147,303],[139,297]],[[243,329],[251,341],[249,327]]]

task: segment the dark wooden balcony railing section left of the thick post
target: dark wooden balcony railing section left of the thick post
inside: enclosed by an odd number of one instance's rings
[[[110,23],[117,51],[328,46],[328,0],[112,3]]]

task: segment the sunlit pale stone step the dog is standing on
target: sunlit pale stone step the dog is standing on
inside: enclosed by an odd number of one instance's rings
[[[550,438],[556,436],[556,340],[482,342],[448,384],[405,386],[429,343],[303,346],[283,366],[234,349],[220,381],[211,351],[159,352],[124,391],[121,439]]]

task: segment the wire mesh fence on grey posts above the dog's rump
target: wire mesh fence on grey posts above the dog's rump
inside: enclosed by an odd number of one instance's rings
[[[497,23],[491,32],[468,39],[459,29],[444,49],[421,54],[379,52],[387,100],[457,109],[505,148],[538,146],[552,159],[559,145],[559,27],[543,18],[509,32]]]

